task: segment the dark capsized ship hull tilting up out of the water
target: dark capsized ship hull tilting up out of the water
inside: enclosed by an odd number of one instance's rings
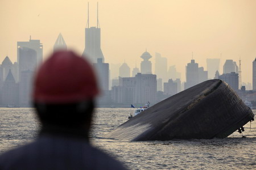
[[[130,118],[106,134],[122,141],[226,138],[254,114],[222,80],[207,80]]]

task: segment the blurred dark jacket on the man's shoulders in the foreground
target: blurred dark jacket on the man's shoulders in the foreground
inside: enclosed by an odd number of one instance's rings
[[[125,169],[82,137],[41,134],[0,156],[0,169]]]

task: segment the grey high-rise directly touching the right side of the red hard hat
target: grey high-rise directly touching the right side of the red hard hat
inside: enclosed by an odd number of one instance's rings
[[[93,67],[98,75],[98,84],[103,91],[109,90],[109,63],[103,63],[102,58],[98,58],[97,63],[93,63]]]

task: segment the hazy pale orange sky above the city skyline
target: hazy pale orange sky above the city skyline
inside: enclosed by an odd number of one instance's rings
[[[176,65],[185,80],[185,65],[193,58],[206,69],[206,58],[242,60],[242,81],[251,82],[256,57],[256,1],[99,2],[101,48],[105,62],[140,65],[147,48]],[[16,42],[40,39],[44,59],[61,32],[69,49],[82,54],[88,1],[0,0],[0,62],[6,54],[16,61]],[[97,1],[90,3],[90,27],[96,26]],[[222,66],[221,66],[222,67]],[[153,68],[154,70],[154,68]],[[222,71],[222,69],[221,69]]]

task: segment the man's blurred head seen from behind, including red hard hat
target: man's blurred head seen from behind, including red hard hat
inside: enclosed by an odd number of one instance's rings
[[[59,51],[39,67],[33,100],[43,125],[89,124],[99,90],[92,66],[71,51]]]

